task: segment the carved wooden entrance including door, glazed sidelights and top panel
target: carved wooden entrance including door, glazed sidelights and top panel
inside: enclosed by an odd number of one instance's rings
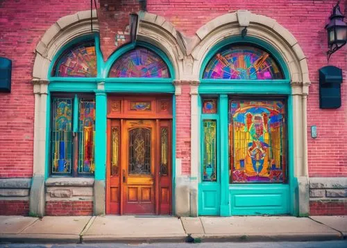
[[[132,97],[108,101],[108,214],[171,214],[171,103],[145,100],[149,107],[141,112]]]

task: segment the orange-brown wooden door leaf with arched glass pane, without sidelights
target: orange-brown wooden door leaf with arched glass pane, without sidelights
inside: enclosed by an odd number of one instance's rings
[[[155,146],[155,121],[124,121],[121,145],[124,214],[155,214]]]

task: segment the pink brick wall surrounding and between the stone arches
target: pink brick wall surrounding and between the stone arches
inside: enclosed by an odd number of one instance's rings
[[[128,12],[137,10],[135,0],[118,1],[117,10],[105,11],[101,0],[99,19],[101,45],[104,57],[116,46],[113,44],[117,28],[124,30]],[[115,2],[115,1],[108,1]],[[310,69],[310,95],[307,109],[307,134],[309,170],[311,177],[347,176],[347,83],[346,47],[332,55],[329,64],[344,70],[342,84],[343,106],[339,109],[319,109],[318,69],[327,65],[326,33],[324,26],[335,0],[149,0],[148,10],[171,21],[185,35],[196,30],[214,17],[239,9],[266,15],[285,26],[298,40],[307,56]],[[346,3],[345,3],[346,4]],[[40,8],[39,8],[40,6]],[[340,5],[344,12],[343,4]],[[44,32],[60,17],[90,8],[90,1],[10,1],[0,2],[0,56],[12,60],[12,92],[0,93],[0,177],[31,177],[33,172],[33,86],[31,75],[34,51]],[[118,17],[115,14],[119,14]],[[115,20],[114,22],[112,22]],[[177,98],[178,130],[177,157],[183,158],[183,173],[189,174],[190,166],[190,120],[185,112],[189,104],[189,87],[183,87],[183,95]],[[189,107],[190,109],[190,107]],[[181,112],[182,111],[182,112]],[[190,110],[189,110],[190,111]],[[310,138],[310,125],[317,125],[318,138]]]

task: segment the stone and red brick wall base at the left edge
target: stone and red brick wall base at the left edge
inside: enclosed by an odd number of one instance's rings
[[[28,215],[31,178],[0,179],[0,215]]]

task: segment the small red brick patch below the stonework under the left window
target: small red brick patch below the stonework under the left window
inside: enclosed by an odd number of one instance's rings
[[[46,202],[45,215],[49,216],[76,216],[93,215],[92,201],[48,201]]]

